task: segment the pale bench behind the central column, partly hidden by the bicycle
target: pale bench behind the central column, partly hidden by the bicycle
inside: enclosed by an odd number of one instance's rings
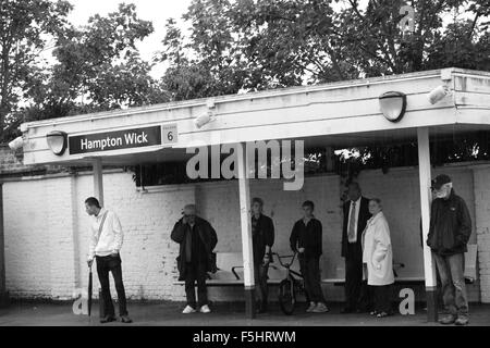
[[[207,286],[244,286],[242,252],[217,252],[216,263],[218,272],[208,273]],[[269,265],[268,284],[270,285],[279,285],[285,278],[285,270],[277,263]],[[293,263],[292,269],[299,270],[297,261]],[[177,281],[173,284],[184,285],[185,282]]]

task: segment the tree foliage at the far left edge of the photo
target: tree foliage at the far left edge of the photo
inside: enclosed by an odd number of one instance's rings
[[[0,1],[0,137],[13,132],[22,121],[19,103],[39,74],[40,53],[49,36],[58,36],[68,25],[72,5],[66,1]]]

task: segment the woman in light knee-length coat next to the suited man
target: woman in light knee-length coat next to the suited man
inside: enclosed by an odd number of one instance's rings
[[[372,217],[363,233],[363,263],[375,297],[371,314],[384,318],[391,314],[391,285],[394,283],[390,227],[380,199],[369,201],[369,212]]]

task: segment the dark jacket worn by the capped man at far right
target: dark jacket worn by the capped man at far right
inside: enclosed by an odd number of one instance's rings
[[[454,189],[449,199],[434,199],[430,209],[427,245],[433,252],[452,256],[467,251],[471,217],[463,198]]]

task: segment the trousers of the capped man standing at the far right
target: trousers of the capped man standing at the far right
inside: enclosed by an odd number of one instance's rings
[[[453,315],[468,316],[468,296],[465,283],[465,256],[457,253],[442,257],[433,253],[441,277],[442,300]]]

